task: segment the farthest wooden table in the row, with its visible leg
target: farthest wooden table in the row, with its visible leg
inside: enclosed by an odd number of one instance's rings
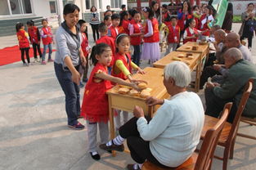
[[[192,50],[193,46],[198,47],[198,49]],[[178,47],[177,51],[200,53],[200,60],[199,60],[200,63],[196,67],[196,75],[195,75],[195,92],[199,92],[200,75],[201,75],[204,61],[209,54],[209,43],[205,43],[204,45],[199,45],[197,42],[186,42],[186,44],[183,44],[181,47]]]

